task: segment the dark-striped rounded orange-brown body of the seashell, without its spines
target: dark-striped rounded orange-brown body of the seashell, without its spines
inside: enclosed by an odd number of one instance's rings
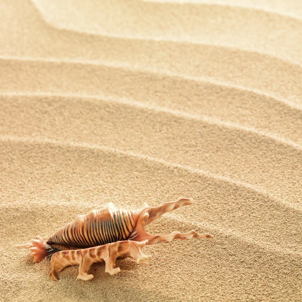
[[[57,231],[47,244],[87,248],[126,240],[135,225],[131,212],[112,203],[87,215],[80,215]]]

